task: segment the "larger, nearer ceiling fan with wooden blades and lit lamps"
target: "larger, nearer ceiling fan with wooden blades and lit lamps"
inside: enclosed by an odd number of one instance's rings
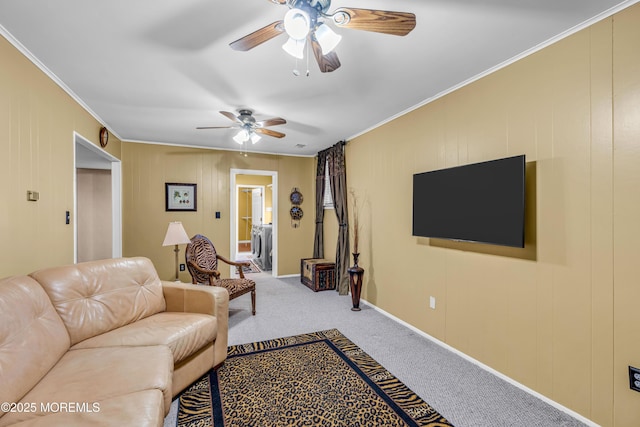
[[[413,13],[349,7],[340,7],[329,13],[331,0],[269,1],[289,8],[284,19],[260,28],[229,46],[234,50],[247,51],[286,32],[289,39],[282,48],[295,58],[302,59],[308,42],[323,73],[340,67],[340,60],[333,49],[342,36],[336,34],[327,23],[395,36],[406,36],[416,26],[416,16]]]

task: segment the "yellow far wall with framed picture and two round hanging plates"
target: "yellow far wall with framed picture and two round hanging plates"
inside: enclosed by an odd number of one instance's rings
[[[311,194],[313,158],[243,157],[233,151],[127,142],[122,146],[123,254],[149,257],[161,278],[170,279],[175,271],[173,249],[162,246],[170,221],[182,221],[189,236],[204,234],[221,255],[229,256],[232,168],[278,173],[278,275],[299,273],[300,258],[313,255],[313,219],[304,218],[299,228],[292,228],[289,217],[290,189],[299,187],[303,194]],[[198,211],[165,212],[165,182],[198,184]],[[220,219],[215,218],[216,211]],[[184,248],[180,246],[180,262],[184,262]],[[180,280],[190,282],[189,273],[181,272]]]

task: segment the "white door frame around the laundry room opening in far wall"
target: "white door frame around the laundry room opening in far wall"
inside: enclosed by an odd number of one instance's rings
[[[230,242],[229,248],[231,250],[231,259],[235,260],[238,255],[238,214],[237,214],[237,197],[238,191],[236,190],[236,175],[260,175],[260,176],[270,176],[271,177],[271,203],[272,203],[272,212],[271,212],[271,222],[273,224],[272,231],[272,255],[271,255],[271,275],[274,277],[278,276],[278,172],[269,171],[269,170],[255,170],[255,169],[231,169],[230,170],[230,179],[229,179],[229,193],[230,193],[230,206],[229,206],[229,216],[230,216]],[[245,185],[245,187],[248,187]],[[235,269],[231,269],[231,274],[235,274]]]

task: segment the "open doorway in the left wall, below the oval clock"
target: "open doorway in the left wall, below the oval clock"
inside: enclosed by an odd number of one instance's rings
[[[74,262],[122,256],[120,160],[74,133]]]

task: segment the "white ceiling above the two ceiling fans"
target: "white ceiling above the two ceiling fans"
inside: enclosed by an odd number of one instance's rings
[[[417,25],[406,37],[335,29],[342,67],[321,73],[311,55],[308,77],[286,35],[229,47],[283,18],[269,0],[2,0],[0,34],[123,140],[240,149],[233,130],[196,127],[250,108],[287,120],[272,128],[285,138],[251,151],[310,156],[637,1],[333,0]]]

